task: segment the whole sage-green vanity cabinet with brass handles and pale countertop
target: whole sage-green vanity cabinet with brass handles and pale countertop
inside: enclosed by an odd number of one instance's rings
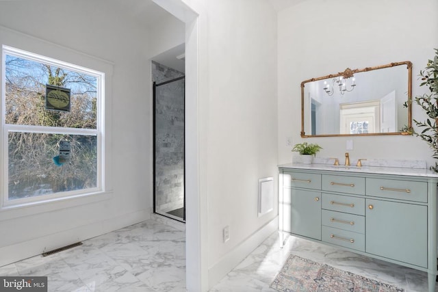
[[[435,291],[437,174],[324,165],[279,171],[281,231],[427,271]]]

